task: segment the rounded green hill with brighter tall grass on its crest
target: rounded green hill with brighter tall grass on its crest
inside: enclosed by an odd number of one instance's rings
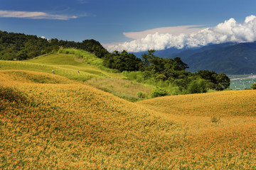
[[[39,56],[22,62],[0,61],[0,69],[23,69],[47,73],[52,73],[54,70],[55,74],[78,81],[86,81],[92,77],[123,77],[114,73],[115,71],[102,67],[102,60],[90,52],[75,49],[63,49],[58,54]]]

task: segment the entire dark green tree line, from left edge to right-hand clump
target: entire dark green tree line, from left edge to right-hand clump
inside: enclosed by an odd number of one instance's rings
[[[28,60],[50,52],[58,52],[60,48],[70,47],[91,52],[103,60],[105,67],[117,69],[129,79],[144,83],[150,80],[149,84],[155,83],[154,85],[157,85],[156,82],[171,84],[176,86],[178,91],[186,91],[185,94],[203,93],[208,89],[221,91],[230,86],[230,79],[223,73],[217,74],[208,70],[187,72],[188,64],[182,62],[180,57],[157,57],[154,50],[148,50],[142,57],[136,57],[125,50],[110,53],[96,40],[47,40],[36,35],[0,31],[0,60]],[[162,91],[159,88],[158,90]]]

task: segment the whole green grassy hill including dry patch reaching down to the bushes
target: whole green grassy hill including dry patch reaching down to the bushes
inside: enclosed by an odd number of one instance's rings
[[[54,70],[56,75],[76,81],[86,81],[98,89],[125,98],[128,101],[145,99],[137,96],[138,90],[146,94],[145,97],[147,97],[151,89],[153,89],[152,86],[131,84],[132,81],[124,80],[124,75],[103,67],[101,59],[82,50],[63,49],[57,54],[39,56],[22,62],[0,60],[0,70],[14,69],[46,72],[49,74],[52,74]],[[101,81],[97,81],[97,79]],[[99,82],[101,83],[98,84]],[[112,86],[107,85],[110,82]],[[129,84],[129,86],[124,87],[124,84]]]

